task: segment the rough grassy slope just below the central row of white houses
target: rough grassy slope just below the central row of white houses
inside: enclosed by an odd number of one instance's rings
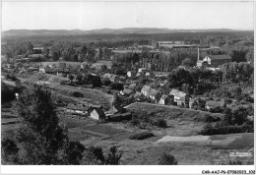
[[[153,133],[159,136],[195,136],[206,124],[202,121],[206,115],[213,117],[223,116],[222,114],[151,103],[133,103],[127,109],[134,112],[145,112],[151,118],[166,120],[167,129],[153,130]]]

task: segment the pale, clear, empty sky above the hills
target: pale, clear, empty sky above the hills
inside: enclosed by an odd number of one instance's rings
[[[253,2],[2,2],[8,29],[253,29]]]

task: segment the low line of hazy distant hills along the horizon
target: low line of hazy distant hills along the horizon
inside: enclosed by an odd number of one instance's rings
[[[3,36],[29,35],[78,35],[78,34],[127,34],[127,33],[173,33],[173,32],[213,32],[235,31],[233,29],[158,29],[158,28],[123,28],[123,29],[10,29],[2,31]]]

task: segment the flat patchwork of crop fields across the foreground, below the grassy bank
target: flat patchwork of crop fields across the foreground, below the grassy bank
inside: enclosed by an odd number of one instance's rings
[[[10,110],[8,110],[8,105],[4,106],[2,111],[5,112],[5,115],[2,115],[2,122],[3,119],[15,117],[6,115]],[[60,111],[59,109],[58,112]],[[232,157],[229,156],[231,151],[248,150],[254,141],[253,134],[210,136],[208,137],[209,142],[203,142],[203,144],[191,141],[191,139],[201,141],[203,138],[200,136],[190,137],[190,140],[187,141],[184,137],[180,137],[183,140],[180,142],[178,140],[175,142],[157,142],[166,135],[157,135],[153,138],[136,141],[130,140],[129,137],[142,132],[140,129],[122,128],[122,124],[119,127],[113,123],[97,124],[96,120],[91,118],[76,118],[75,116],[59,114],[61,123],[68,129],[70,140],[80,141],[85,146],[100,146],[103,151],[106,151],[109,146],[118,146],[119,150],[123,151],[120,163],[128,165],[158,164],[160,154],[163,152],[173,154],[179,165],[218,165],[231,160]],[[114,126],[116,127],[114,128]],[[19,123],[2,125],[2,139],[13,137],[18,127]],[[188,128],[188,130],[191,129]],[[253,157],[241,157],[241,160],[251,163]]]

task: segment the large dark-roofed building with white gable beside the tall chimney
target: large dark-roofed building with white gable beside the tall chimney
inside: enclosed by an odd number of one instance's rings
[[[224,63],[231,62],[232,58],[229,55],[208,55],[203,61],[207,62],[210,67],[218,68]]]

